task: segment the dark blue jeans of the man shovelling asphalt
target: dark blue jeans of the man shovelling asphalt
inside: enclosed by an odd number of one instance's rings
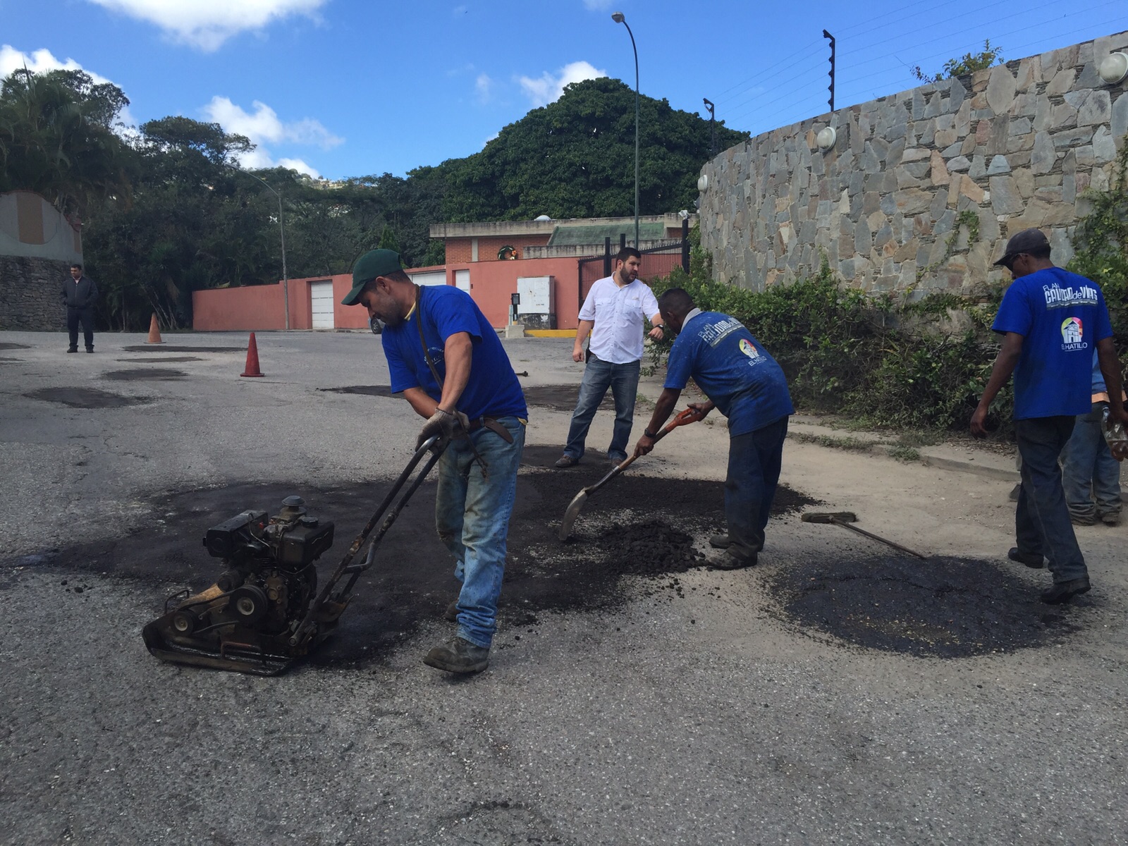
[[[729,475],[724,479],[724,518],[729,555],[751,558],[764,548],[764,528],[772,513],[783,464],[787,417],[729,440]]]

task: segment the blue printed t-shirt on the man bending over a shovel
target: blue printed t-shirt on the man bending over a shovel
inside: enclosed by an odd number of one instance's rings
[[[776,360],[734,317],[690,312],[670,347],[666,386],[681,390],[693,377],[729,418],[729,435],[747,434],[794,414]]]

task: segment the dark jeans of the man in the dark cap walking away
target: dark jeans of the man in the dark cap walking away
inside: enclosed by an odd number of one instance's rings
[[[1022,490],[1014,512],[1014,534],[1023,555],[1049,558],[1055,582],[1089,575],[1085,558],[1069,522],[1061,488],[1058,456],[1073,434],[1075,417],[1031,417],[1014,421],[1022,456]]]

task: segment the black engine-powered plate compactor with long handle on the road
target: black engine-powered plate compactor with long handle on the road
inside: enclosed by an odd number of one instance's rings
[[[380,540],[442,455],[440,443],[431,438],[420,446],[320,590],[317,559],[333,546],[333,523],[310,517],[300,496],[283,500],[273,517],[244,511],[208,529],[204,547],[222,561],[223,572],[200,593],[184,590],[169,597],[165,614],[142,629],[146,646],[164,661],[257,676],[276,676],[308,655],[336,628]],[[429,453],[393,508],[412,470]],[[354,564],[381,518],[368,555]]]

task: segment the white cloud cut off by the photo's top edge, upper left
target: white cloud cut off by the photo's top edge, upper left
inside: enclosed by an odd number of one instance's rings
[[[292,15],[315,17],[328,0],[89,0],[111,11],[156,24],[174,39],[204,51],[232,35],[262,29]]]

